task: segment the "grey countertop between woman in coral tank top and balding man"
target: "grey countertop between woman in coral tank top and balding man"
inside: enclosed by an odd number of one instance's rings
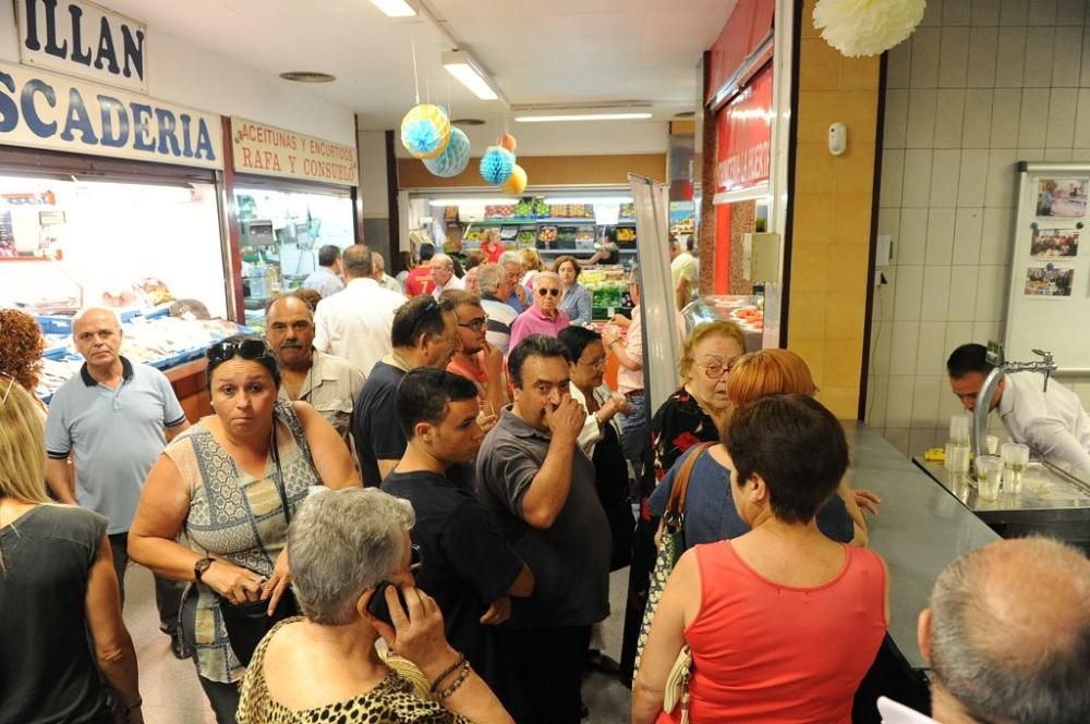
[[[882,499],[868,523],[870,548],[889,567],[889,637],[909,666],[925,670],[916,621],[935,579],[958,556],[1000,537],[876,431],[862,422],[846,421],[844,428],[851,487]]]

